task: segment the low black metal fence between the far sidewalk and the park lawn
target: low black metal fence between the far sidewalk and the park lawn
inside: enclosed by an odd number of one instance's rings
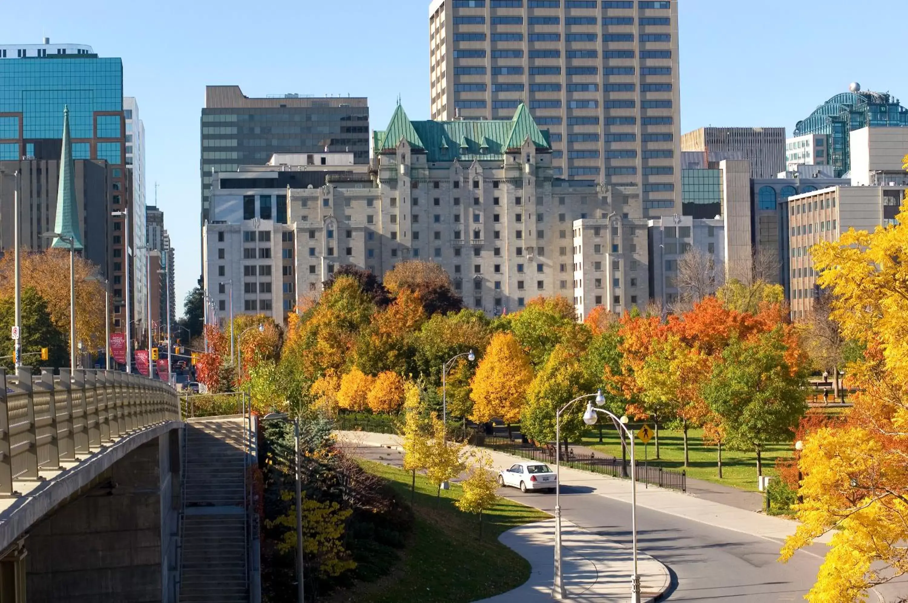
[[[514,443],[507,438],[498,436],[488,436],[477,434],[470,443],[498,452],[508,452],[525,459],[538,460],[555,464],[555,448],[538,448],[531,444]],[[625,478],[630,476],[630,461],[613,459],[611,457],[596,456],[595,454],[575,454],[568,447],[568,454],[561,450],[559,460],[563,467],[592,471],[609,475],[613,478]],[[660,488],[678,489],[682,492],[687,491],[687,473],[684,470],[670,470],[661,467],[650,467],[645,461],[637,460],[637,481],[642,484],[653,484]]]

